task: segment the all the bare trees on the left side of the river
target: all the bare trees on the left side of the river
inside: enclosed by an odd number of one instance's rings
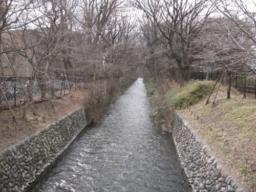
[[[127,10],[123,0],[0,0],[0,76],[30,77],[23,118],[35,79],[47,94],[56,72],[65,81],[96,74],[114,82],[136,70],[137,33]]]

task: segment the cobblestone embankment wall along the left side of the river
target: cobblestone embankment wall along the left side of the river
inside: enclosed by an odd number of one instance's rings
[[[0,152],[0,192],[23,191],[86,126],[84,108]]]

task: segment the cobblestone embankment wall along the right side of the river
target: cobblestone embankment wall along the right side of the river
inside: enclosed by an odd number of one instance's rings
[[[179,112],[175,116],[173,137],[181,165],[194,192],[248,191],[227,172],[210,146],[202,141]]]

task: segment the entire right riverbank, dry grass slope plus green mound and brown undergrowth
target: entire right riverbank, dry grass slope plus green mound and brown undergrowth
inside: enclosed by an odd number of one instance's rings
[[[256,191],[256,99],[242,99],[243,95],[234,89],[231,90],[231,99],[226,99],[227,87],[221,86],[214,105],[215,92],[207,105],[208,96],[204,96],[193,105],[179,108],[184,100],[194,102],[189,100],[191,96],[186,95],[191,91],[191,85],[180,89],[177,83],[169,82],[163,86],[163,89],[152,86],[147,90],[151,95],[155,122],[168,131],[171,122],[166,117],[172,112],[169,106],[175,105],[176,111],[181,112],[203,140],[209,143],[231,175],[249,191]],[[173,96],[172,91],[175,92]],[[200,96],[202,92],[194,93]]]

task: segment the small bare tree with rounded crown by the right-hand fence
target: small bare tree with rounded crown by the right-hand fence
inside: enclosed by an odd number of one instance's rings
[[[232,79],[250,72],[250,50],[253,42],[239,28],[225,17],[209,18],[203,39],[205,40],[206,60],[214,60],[215,70],[226,71],[228,80],[227,98],[230,98]]]

